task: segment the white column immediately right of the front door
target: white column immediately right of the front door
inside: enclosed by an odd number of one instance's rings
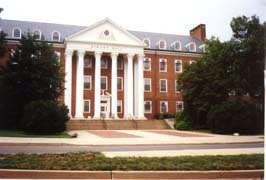
[[[112,116],[117,118],[117,53],[112,53]]]

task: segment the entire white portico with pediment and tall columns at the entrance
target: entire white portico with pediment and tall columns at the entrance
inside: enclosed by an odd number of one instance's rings
[[[143,57],[145,44],[114,24],[110,19],[98,22],[65,39],[65,104],[75,113],[72,119],[85,119],[84,100],[89,98],[88,118],[117,119],[118,116],[118,57],[122,57],[123,97],[120,97],[124,119],[144,119],[144,85]],[[93,97],[84,94],[84,59],[86,54],[93,56],[94,69],[91,74]],[[73,56],[76,56],[76,76],[73,76]],[[103,70],[101,61],[108,56],[111,64],[107,70],[107,81],[110,87],[101,88]],[[110,71],[110,73],[109,73]],[[106,75],[106,73],[103,73]],[[122,75],[121,75],[122,73]],[[73,77],[76,77],[73,79]],[[73,86],[76,82],[76,86]],[[106,85],[107,86],[107,85]],[[75,88],[75,91],[73,89]],[[73,94],[75,92],[75,95]],[[73,101],[75,103],[73,103]],[[74,105],[74,107],[72,107]],[[120,116],[121,117],[121,116]]]

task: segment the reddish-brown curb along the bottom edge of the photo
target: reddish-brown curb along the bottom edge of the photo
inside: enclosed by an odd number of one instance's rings
[[[262,178],[264,170],[233,171],[69,171],[0,169],[0,178],[41,179],[225,179]]]

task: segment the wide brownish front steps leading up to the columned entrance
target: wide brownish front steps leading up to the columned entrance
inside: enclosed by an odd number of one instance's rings
[[[70,120],[67,130],[171,129],[164,120]]]

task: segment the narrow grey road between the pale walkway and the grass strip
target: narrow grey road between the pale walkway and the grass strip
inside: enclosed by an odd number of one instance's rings
[[[159,150],[201,150],[263,148],[264,143],[244,144],[182,144],[182,145],[5,145],[0,144],[0,153],[65,153],[78,151],[159,151]]]

